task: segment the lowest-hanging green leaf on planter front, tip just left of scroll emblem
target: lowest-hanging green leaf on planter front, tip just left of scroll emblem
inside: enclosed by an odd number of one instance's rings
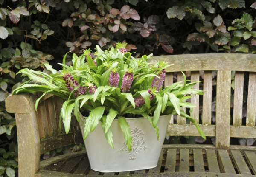
[[[124,117],[118,117],[118,122],[119,122],[121,130],[122,130],[122,132],[125,136],[125,141],[126,141],[126,145],[128,147],[128,150],[129,150],[129,152],[131,152],[132,136],[131,136],[130,126],[128,125],[128,123],[127,123],[127,121]]]

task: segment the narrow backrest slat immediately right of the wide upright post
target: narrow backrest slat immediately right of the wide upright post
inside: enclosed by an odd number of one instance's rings
[[[243,112],[243,92],[244,92],[244,72],[236,72],[235,76],[235,94],[234,94],[234,112],[233,125],[242,125]]]

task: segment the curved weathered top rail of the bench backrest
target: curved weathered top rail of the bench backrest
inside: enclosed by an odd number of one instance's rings
[[[256,55],[242,53],[207,53],[154,56],[148,62],[165,61],[174,64],[166,72],[226,70],[256,72]]]

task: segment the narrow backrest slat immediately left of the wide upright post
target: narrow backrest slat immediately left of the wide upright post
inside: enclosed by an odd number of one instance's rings
[[[212,124],[212,71],[204,71],[202,124]]]

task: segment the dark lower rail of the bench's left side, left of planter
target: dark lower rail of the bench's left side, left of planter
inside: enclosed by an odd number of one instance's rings
[[[53,136],[40,142],[40,153],[52,151],[60,147],[83,143],[83,137],[80,131],[70,132],[68,134]]]

